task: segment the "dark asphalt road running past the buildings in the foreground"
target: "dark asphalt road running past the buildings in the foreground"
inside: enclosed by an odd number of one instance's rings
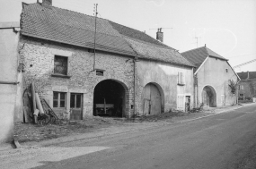
[[[44,161],[44,165],[34,168],[256,168],[251,159],[256,150],[256,106],[148,131],[58,146],[106,149],[57,162]]]

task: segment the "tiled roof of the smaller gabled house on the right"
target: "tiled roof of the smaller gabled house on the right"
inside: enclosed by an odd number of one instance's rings
[[[190,63],[195,64],[197,67],[201,65],[207,58],[207,56],[216,57],[219,59],[223,59],[227,61],[223,56],[216,54],[214,51],[207,48],[207,46],[202,46],[199,48],[195,48],[186,52],[181,53],[186,59],[190,61]]]

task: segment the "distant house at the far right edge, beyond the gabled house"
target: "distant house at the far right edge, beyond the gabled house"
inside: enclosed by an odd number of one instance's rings
[[[251,99],[256,97],[256,72],[238,72],[240,77],[238,86],[239,99]]]

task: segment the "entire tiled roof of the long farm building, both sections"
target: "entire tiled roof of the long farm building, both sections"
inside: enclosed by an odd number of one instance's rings
[[[93,48],[94,28],[93,16],[54,6],[44,7],[39,3],[23,5],[21,33],[24,36]],[[163,45],[146,33],[101,18],[97,18],[96,49],[192,65],[172,47]]]

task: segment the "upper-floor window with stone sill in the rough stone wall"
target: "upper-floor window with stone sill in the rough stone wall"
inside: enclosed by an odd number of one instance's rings
[[[54,73],[67,75],[67,57],[55,55],[55,57],[54,57]]]

